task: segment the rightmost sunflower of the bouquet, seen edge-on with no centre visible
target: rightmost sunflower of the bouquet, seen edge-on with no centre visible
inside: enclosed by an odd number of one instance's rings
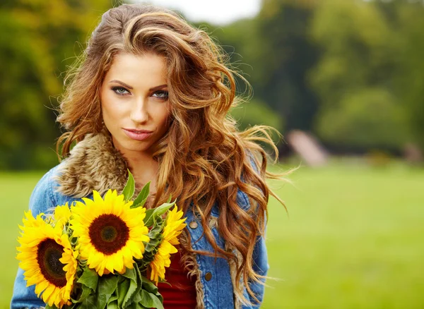
[[[167,214],[165,227],[162,231],[162,243],[160,243],[158,252],[150,264],[151,280],[155,281],[155,284],[158,284],[159,278],[165,279],[165,267],[170,267],[171,254],[177,253],[177,248],[175,248],[179,244],[177,237],[181,234],[182,229],[187,226],[184,223],[185,218],[181,219],[181,217],[182,211],[177,211],[176,206]]]

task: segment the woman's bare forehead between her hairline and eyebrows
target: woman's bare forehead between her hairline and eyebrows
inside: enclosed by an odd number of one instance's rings
[[[158,54],[141,55],[119,53],[114,56],[105,80],[120,80],[136,83],[139,80],[166,82],[166,59]]]

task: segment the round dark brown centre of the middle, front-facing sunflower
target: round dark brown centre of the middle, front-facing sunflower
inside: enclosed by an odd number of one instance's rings
[[[95,218],[88,228],[93,246],[105,255],[111,255],[125,246],[129,228],[114,214],[102,214]]]

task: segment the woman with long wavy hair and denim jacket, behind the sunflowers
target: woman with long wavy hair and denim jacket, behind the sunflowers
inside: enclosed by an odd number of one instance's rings
[[[266,171],[256,143],[278,154],[270,128],[238,132],[227,115],[236,104],[233,74],[211,38],[172,11],[107,11],[67,78],[58,117],[68,130],[58,141],[66,159],[37,184],[33,214],[92,190],[122,190],[129,169],[139,190],[151,181],[148,207],[172,195],[187,216],[167,269],[171,286],[159,286],[165,308],[258,308],[273,195],[265,178],[282,175]],[[11,307],[42,305],[19,269]]]

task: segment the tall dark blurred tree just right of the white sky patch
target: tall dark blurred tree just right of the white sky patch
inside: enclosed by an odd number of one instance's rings
[[[260,44],[254,46],[260,54],[252,63],[252,85],[283,117],[285,131],[310,131],[317,112],[317,96],[305,78],[318,57],[308,37],[315,6],[311,0],[264,0],[257,17]]]

